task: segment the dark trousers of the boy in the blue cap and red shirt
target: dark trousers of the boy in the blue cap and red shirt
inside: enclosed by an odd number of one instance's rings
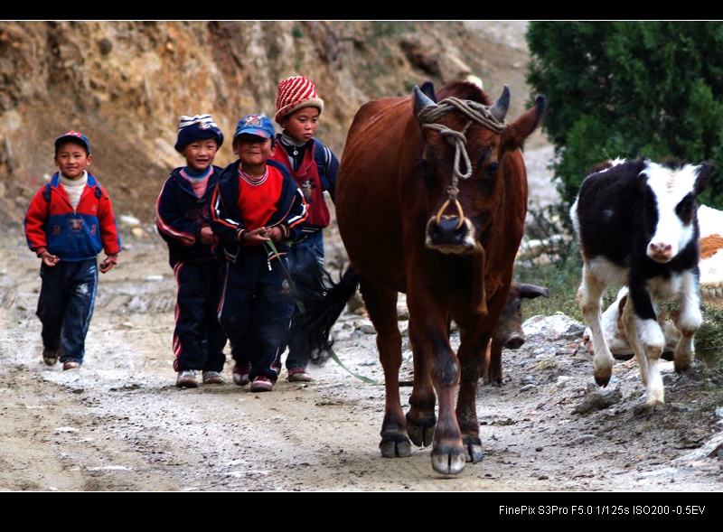
[[[282,266],[280,261],[284,261]],[[268,261],[263,247],[241,250],[226,268],[219,321],[231,343],[232,358],[251,363],[249,378],[276,382],[274,361],[291,317],[286,257]]]

